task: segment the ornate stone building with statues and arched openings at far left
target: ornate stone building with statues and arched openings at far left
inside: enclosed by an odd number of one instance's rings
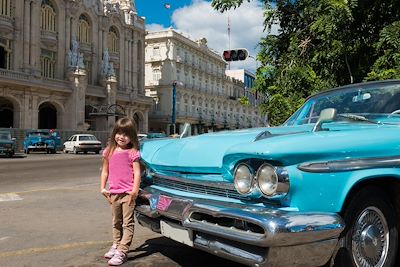
[[[132,0],[0,0],[0,127],[147,131],[144,25]]]

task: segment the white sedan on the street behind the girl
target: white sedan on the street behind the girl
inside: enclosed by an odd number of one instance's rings
[[[64,153],[94,152],[99,154],[101,142],[92,134],[74,134],[64,143]]]

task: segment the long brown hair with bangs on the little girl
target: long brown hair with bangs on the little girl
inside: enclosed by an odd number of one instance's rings
[[[131,142],[128,144],[129,148],[135,148],[136,150],[139,150],[139,139],[137,137],[136,123],[130,118],[121,118],[115,123],[110,140],[108,141],[106,155],[107,158],[112,155],[117,147],[115,135],[118,133],[123,133],[131,139]]]

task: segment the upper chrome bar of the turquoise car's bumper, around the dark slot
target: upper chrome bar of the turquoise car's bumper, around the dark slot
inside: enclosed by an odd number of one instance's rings
[[[160,195],[168,197],[170,204],[160,209]],[[167,217],[180,221],[188,229],[223,237],[229,240],[261,247],[291,246],[328,239],[337,239],[344,229],[344,222],[336,213],[290,212],[271,207],[249,207],[210,199],[189,199],[146,187],[139,198],[148,205],[136,206],[136,211],[151,218]],[[140,203],[140,201],[138,201]],[[245,220],[264,229],[265,234],[242,231],[234,227],[191,220],[193,213],[203,213],[220,218]]]

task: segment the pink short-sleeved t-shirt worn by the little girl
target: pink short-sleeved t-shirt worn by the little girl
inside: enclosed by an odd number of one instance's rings
[[[107,154],[106,148],[103,157]],[[140,152],[134,149],[115,151],[108,157],[108,184],[112,194],[122,194],[133,189],[133,162],[140,158]]]

